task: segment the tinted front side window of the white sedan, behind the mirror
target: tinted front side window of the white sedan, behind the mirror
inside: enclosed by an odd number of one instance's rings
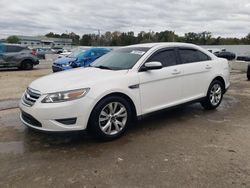
[[[172,66],[177,64],[175,51],[174,50],[165,50],[157,54],[154,54],[148,59],[149,61],[158,61],[162,63],[163,67]]]

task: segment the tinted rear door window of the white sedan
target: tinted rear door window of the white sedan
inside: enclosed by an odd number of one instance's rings
[[[208,55],[195,49],[179,49],[179,54],[182,63],[195,63],[211,60]]]

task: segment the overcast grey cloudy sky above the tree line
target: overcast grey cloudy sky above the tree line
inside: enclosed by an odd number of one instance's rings
[[[250,32],[250,0],[0,0],[0,38],[105,31]]]

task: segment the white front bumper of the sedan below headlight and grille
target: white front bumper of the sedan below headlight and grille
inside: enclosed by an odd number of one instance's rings
[[[44,104],[41,96],[33,106],[27,106],[21,100],[20,119],[23,124],[33,129],[49,132],[78,131],[87,128],[88,119],[95,105],[87,96],[62,103]],[[75,118],[74,124],[62,123],[65,119]]]

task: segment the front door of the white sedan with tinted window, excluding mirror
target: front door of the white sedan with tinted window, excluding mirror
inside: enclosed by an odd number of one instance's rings
[[[150,113],[179,104],[182,83],[176,50],[168,48],[154,53],[146,62],[158,61],[162,69],[139,72],[142,113]]]

